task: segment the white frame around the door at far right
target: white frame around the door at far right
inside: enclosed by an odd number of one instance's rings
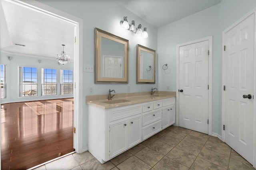
[[[225,142],[225,131],[223,130],[223,125],[225,125],[225,104],[224,104],[224,93],[223,93],[223,86],[225,85],[225,61],[223,60],[223,56],[224,56],[224,41],[223,41],[223,37],[224,34],[227,33],[228,31],[230,31],[230,29],[233,29],[236,25],[238,25],[239,23],[241,23],[242,21],[244,21],[246,18],[248,18],[250,15],[254,14],[254,162],[253,162],[253,167],[256,168],[256,8],[254,8],[253,10],[251,10],[250,12],[248,12],[246,15],[244,15],[242,18],[240,18],[239,20],[237,20],[236,22],[234,22],[232,25],[230,25],[229,27],[227,27],[226,29],[224,29],[224,31],[222,31],[222,123],[221,123],[221,129],[222,129],[222,141]]]

